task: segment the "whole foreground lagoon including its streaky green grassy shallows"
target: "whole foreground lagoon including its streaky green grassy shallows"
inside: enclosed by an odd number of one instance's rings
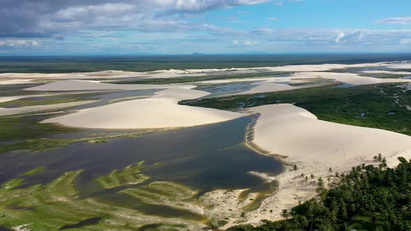
[[[224,222],[206,216],[213,207],[204,205],[210,203],[207,193],[247,189],[238,200],[247,198],[244,209],[255,209],[267,197],[264,191],[274,188],[250,172],[282,170],[276,159],[245,146],[249,122],[245,117],[106,143],[3,153],[0,223],[31,223],[26,228],[32,230],[146,230],[153,221],[160,230],[217,227]],[[252,193],[256,200],[249,200]]]

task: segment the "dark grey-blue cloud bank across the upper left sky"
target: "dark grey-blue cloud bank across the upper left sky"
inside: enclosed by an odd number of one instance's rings
[[[0,36],[44,38],[81,30],[179,30],[187,28],[187,23],[177,19],[177,14],[201,14],[268,1],[271,0],[2,0]]]

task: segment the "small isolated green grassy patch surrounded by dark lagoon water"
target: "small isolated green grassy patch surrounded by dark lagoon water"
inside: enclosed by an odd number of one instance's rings
[[[140,161],[137,164],[123,168],[123,170],[113,170],[107,175],[98,177],[95,181],[104,189],[116,188],[126,184],[139,184],[148,179],[148,176],[140,173],[144,167],[144,161]]]

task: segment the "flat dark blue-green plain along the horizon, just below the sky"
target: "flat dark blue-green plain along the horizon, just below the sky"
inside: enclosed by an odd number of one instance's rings
[[[323,63],[409,61],[411,54],[246,54],[156,56],[0,56],[0,73],[134,72],[169,69],[266,67]]]

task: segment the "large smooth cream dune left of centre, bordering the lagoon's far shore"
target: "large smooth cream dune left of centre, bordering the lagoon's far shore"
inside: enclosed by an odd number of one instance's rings
[[[44,122],[54,122],[69,127],[147,129],[191,127],[244,116],[229,111],[177,104],[181,99],[194,99],[209,94],[199,90],[167,89],[156,94],[149,99],[135,99],[84,109],[68,116],[50,118]]]

